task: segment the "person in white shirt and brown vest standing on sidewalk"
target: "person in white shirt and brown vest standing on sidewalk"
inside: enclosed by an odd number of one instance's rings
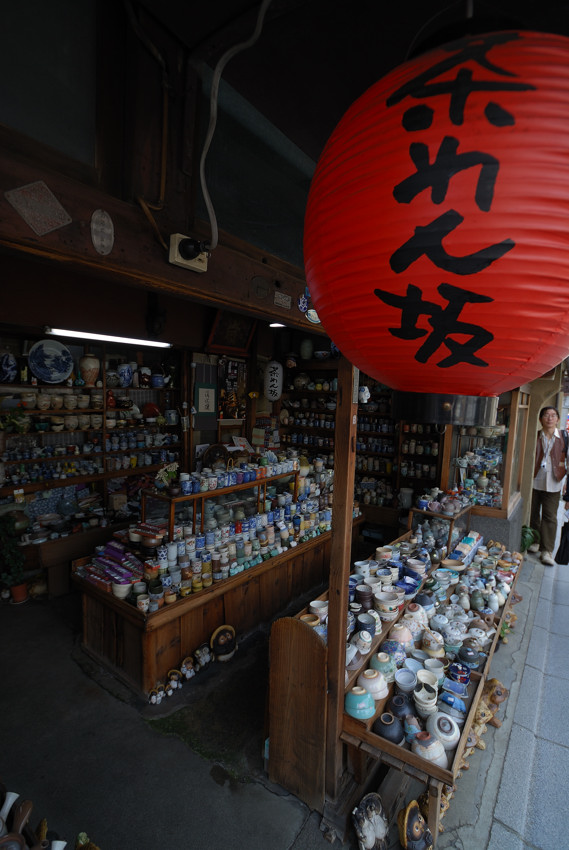
[[[542,407],[539,412],[541,431],[537,435],[531,500],[530,525],[540,533],[540,543],[532,543],[530,552],[541,550],[541,562],[548,567],[555,563],[553,549],[557,535],[557,509],[567,472],[567,449],[564,435],[559,431],[559,411]],[[565,506],[569,503],[566,501]]]

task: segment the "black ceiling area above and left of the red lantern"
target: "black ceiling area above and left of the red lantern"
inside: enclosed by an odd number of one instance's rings
[[[139,0],[215,66],[249,39],[261,0]],[[350,106],[391,68],[468,32],[533,29],[569,35],[569,0],[272,0],[256,43],[223,80],[317,161]]]

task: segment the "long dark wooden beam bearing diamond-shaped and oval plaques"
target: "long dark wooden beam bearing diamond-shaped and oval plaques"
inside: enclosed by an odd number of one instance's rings
[[[42,236],[34,233],[3,194],[38,181],[47,185],[71,217],[69,224]],[[6,150],[0,150],[0,186],[0,251],[323,333],[320,326],[309,326],[297,307],[306,286],[303,270],[254,246],[222,234],[207,271],[197,273],[168,262],[167,251],[137,204]],[[105,210],[114,225],[114,246],[106,256],[98,254],[91,242],[91,216],[98,209]],[[168,242],[171,225],[162,222],[160,215],[155,214],[156,224]]]

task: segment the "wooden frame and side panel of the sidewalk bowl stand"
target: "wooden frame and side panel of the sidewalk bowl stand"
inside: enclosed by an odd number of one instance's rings
[[[512,592],[518,575],[519,569],[512,582]],[[327,598],[327,594],[321,598]],[[410,749],[392,744],[372,732],[374,720],[384,710],[385,703],[393,693],[394,685],[391,684],[388,696],[377,703],[375,715],[371,719],[360,721],[343,714],[340,739],[344,744],[344,776],[341,799],[335,802],[327,799],[325,787],[327,647],[314,629],[299,619],[306,609],[299,611],[295,617],[277,620],[271,631],[270,656],[271,781],[283,785],[320,812],[323,815],[322,828],[344,839],[351,811],[366,793],[366,786],[378,773],[378,768],[385,766],[396,770],[418,779],[429,789],[429,828],[436,843],[441,792],[444,785],[453,785],[455,782],[509,605],[509,600],[506,600],[496,620],[496,634],[488,649],[484,667],[472,671],[469,694],[465,699],[467,716],[448,769],[422,759]],[[378,651],[392,626],[393,622],[386,623],[381,632],[374,636],[372,649],[365,656],[361,667],[350,672],[345,691],[354,686],[359,673],[368,666],[369,659]]]

